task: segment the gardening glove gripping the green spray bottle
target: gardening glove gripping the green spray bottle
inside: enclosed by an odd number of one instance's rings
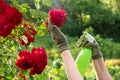
[[[77,46],[81,47],[81,44],[84,42],[85,35],[83,34],[77,42]],[[98,59],[102,57],[102,53],[100,51],[99,45],[95,42],[87,42],[86,47],[92,48],[92,59]]]

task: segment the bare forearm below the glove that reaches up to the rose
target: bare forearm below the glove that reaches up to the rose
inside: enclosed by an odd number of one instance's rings
[[[64,50],[61,53],[64,67],[69,80],[83,80],[80,73],[77,70],[74,59],[70,53],[70,50]]]

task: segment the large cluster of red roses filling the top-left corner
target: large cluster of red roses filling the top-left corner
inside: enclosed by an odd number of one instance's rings
[[[8,3],[0,0],[0,36],[7,37],[22,22],[22,14]]]

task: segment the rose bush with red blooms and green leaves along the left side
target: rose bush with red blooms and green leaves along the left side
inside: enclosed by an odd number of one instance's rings
[[[47,65],[45,49],[42,46],[38,47],[31,44],[35,42],[38,33],[43,36],[46,32],[46,28],[41,28],[42,21],[44,22],[41,16],[35,15],[40,19],[39,22],[29,20],[35,17],[28,19],[29,16],[26,16],[27,11],[33,16],[34,13],[30,12],[32,10],[35,13],[42,12],[30,9],[27,3],[18,4],[16,0],[7,3],[0,0],[0,79],[19,80],[20,78],[32,80],[32,75],[41,74]],[[46,13],[44,12],[44,14]],[[32,48],[33,50],[30,51]],[[24,71],[26,74],[24,74]]]

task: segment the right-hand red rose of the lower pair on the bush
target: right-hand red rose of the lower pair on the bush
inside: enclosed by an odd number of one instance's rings
[[[44,48],[33,48],[31,55],[34,62],[30,69],[31,75],[41,74],[47,65],[47,55]]]

